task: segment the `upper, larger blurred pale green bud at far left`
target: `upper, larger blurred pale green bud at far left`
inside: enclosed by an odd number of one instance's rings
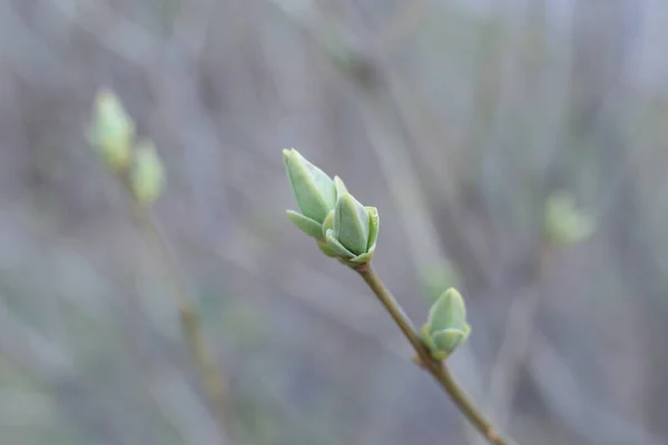
[[[134,137],[135,122],[118,97],[107,89],[100,90],[95,99],[88,139],[111,170],[117,172],[129,167]]]

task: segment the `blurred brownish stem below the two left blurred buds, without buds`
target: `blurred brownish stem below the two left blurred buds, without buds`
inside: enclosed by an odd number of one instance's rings
[[[234,435],[235,424],[227,405],[227,390],[223,373],[216,362],[214,349],[204,334],[199,314],[186,285],[185,274],[150,209],[134,201],[132,214],[165,267],[165,275],[171,280],[181,332],[214,415],[223,432]]]

